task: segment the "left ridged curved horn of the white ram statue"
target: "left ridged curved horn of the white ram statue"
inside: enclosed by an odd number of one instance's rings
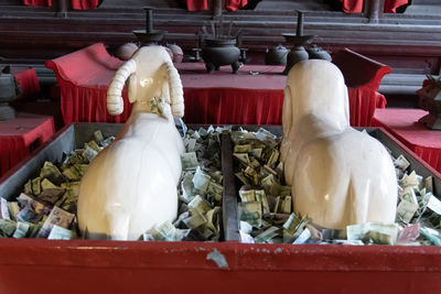
[[[112,116],[121,115],[123,111],[122,88],[127,78],[135,73],[137,64],[133,59],[125,63],[115,74],[107,89],[107,110]]]

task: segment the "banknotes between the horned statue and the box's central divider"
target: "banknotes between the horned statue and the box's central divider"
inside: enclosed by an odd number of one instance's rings
[[[143,240],[218,241],[222,238],[220,134],[228,128],[189,130],[181,155],[179,217],[143,235]]]

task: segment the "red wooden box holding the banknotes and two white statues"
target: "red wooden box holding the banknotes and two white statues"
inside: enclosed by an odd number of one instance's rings
[[[0,195],[15,195],[45,160],[72,150],[75,139],[119,128],[64,128],[0,178]],[[440,174],[387,132],[370,132],[407,156],[417,173],[432,174],[441,192]],[[276,292],[441,293],[441,247],[0,239],[0,293]]]

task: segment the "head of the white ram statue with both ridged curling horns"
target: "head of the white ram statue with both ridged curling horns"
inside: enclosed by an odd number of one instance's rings
[[[117,70],[107,90],[107,110],[110,115],[117,116],[123,111],[121,92],[128,78],[130,102],[163,97],[171,105],[173,117],[183,117],[182,81],[164,47],[141,47]]]

